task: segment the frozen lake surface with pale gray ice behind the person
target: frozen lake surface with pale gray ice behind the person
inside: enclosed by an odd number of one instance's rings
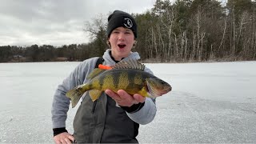
[[[54,90],[79,62],[0,63],[0,143],[52,143]],[[173,86],[142,143],[255,143],[256,62],[146,64]],[[77,106],[78,107],[78,106]],[[72,133],[76,109],[70,109]]]

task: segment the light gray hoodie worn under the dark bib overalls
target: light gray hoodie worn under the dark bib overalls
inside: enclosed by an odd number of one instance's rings
[[[104,58],[103,64],[106,66],[114,66],[116,63],[110,57],[110,49],[106,50],[102,58]],[[130,55],[126,58],[140,59],[140,56],[137,52],[131,52]],[[62,84],[58,86],[58,89],[54,94],[51,110],[53,128],[66,127],[67,111],[69,110],[70,106],[70,99],[66,98],[66,92],[73,89],[75,86],[88,82],[86,76],[90,74],[92,70],[94,70],[97,60],[98,58],[90,58],[81,62],[74,69],[74,71],[72,71],[71,74],[66,79],[64,79]],[[152,71],[150,71],[148,68],[146,68],[145,71],[153,74]],[[157,109],[154,101],[151,98],[146,98],[145,105],[142,107],[142,109],[135,113],[126,114],[134,122],[145,125],[153,121],[156,111]]]

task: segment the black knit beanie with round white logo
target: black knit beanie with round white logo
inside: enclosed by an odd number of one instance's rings
[[[130,14],[123,12],[121,10],[114,10],[113,14],[110,14],[107,20],[107,38],[110,38],[112,30],[120,26],[132,30],[134,32],[134,37],[137,38],[137,24]]]

